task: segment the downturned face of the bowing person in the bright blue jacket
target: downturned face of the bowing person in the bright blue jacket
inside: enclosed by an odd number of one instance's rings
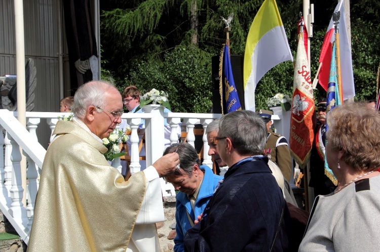
[[[182,169],[180,169],[180,171],[182,172],[181,176],[176,176],[172,173],[165,177],[166,181],[172,183],[174,188],[180,192],[186,193],[187,195],[193,194],[202,181],[203,174],[200,173],[203,172],[198,166],[194,167],[191,176],[187,175]]]

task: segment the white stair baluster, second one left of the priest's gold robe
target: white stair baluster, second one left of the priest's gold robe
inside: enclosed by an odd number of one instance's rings
[[[26,216],[25,208],[22,204],[24,189],[22,188],[21,179],[21,152],[17,142],[11,136],[8,137],[10,137],[12,144],[12,186],[10,189],[12,203],[9,213],[13,218],[21,220]]]

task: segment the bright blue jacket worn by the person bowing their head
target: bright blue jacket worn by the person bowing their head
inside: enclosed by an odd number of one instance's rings
[[[200,169],[205,172],[201,188],[199,189],[197,201],[195,203],[194,211],[187,195],[183,192],[178,192],[176,195],[175,203],[175,230],[177,236],[174,238],[174,251],[184,251],[183,235],[192,227],[188,220],[186,212],[188,212],[194,221],[196,217],[203,213],[208,201],[210,200],[215,188],[223,177],[218,176],[212,172],[208,166],[201,166]]]

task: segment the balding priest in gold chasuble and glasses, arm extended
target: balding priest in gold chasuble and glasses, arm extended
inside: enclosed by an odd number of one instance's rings
[[[160,177],[177,169],[165,155],[128,181],[103,154],[102,138],[121,122],[122,97],[104,81],[82,85],[71,121],[59,121],[46,152],[29,251],[160,251]]]

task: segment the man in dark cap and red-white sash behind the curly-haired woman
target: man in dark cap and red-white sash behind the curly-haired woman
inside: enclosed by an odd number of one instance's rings
[[[310,182],[314,187],[314,197],[327,195],[335,190],[335,185],[325,175],[326,107],[324,98],[317,104],[317,127],[310,156]]]

